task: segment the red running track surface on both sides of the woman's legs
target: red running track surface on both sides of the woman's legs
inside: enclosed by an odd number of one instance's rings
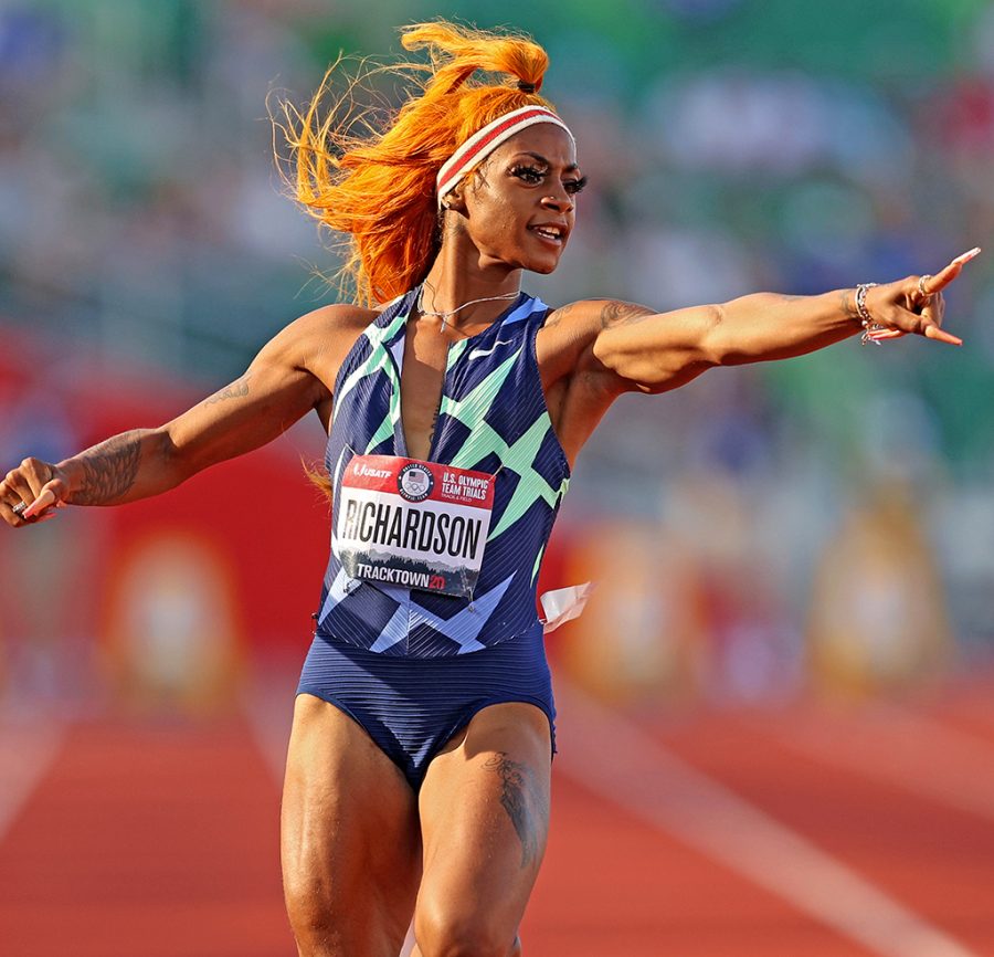
[[[617,726],[560,695],[528,957],[994,957],[986,688]],[[287,716],[73,724],[6,824],[0,786],[0,955],[290,957]],[[0,781],[32,740],[0,735]]]

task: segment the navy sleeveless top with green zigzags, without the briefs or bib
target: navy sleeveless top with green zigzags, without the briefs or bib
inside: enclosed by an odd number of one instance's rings
[[[359,337],[335,386],[326,465],[335,483],[353,455],[406,456],[400,375],[414,290]],[[549,307],[521,294],[485,332],[454,343],[429,458],[496,474],[494,512],[469,601],[350,579],[331,555],[317,634],[412,658],[463,654],[537,623],[536,582],[569,465],[546,408],[535,337]]]

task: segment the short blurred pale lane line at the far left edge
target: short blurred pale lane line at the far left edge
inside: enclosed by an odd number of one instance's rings
[[[64,740],[62,721],[0,718],[0,841],[55,763]]]

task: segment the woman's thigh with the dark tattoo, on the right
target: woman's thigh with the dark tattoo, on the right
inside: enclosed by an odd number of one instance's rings
[[[484,708],[432,761],[414,918],[424,957],[515,953],[546,850],[550,771],[549,719],[518,703]]]

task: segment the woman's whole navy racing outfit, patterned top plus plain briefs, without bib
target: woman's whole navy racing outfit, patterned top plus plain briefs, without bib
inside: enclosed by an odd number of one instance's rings
[[[416,297],[414,290],[380,314],[336,380],[326,453],[332,512],[353,455],[406,458],[400,376]],[[334,551],[328,562],[297,691],[355,718],[415,791],[445,743],[493,704],[540,708],[556,749],[551,677],[536,613],[539,566],[569,484],[535,353],[549,312],[521,294],[485,332],[448,350],[429,458],[496,475],[472,600],[350,578]]]

